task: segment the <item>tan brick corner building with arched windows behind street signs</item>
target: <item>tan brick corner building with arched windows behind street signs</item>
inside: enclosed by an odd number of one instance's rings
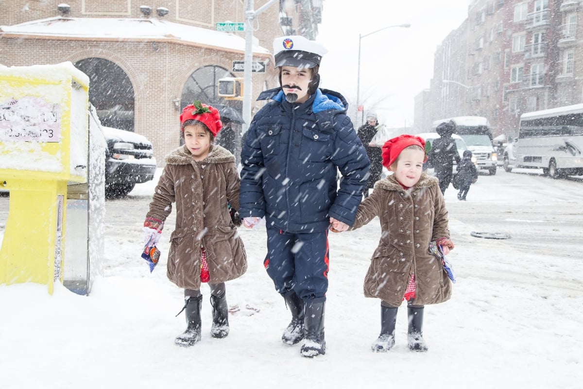
[[[90,78],[90,101],[110,127],[145,135],[159,164],[180,144],[178,117],[194,100],[219,103],[239,113],[242,98],[217,94],[218,80],[243,78],[244,32],[216,31],[221,22],[244,22],[244,0],[11,1],[0,14],[0,64],[28,66],[71,61]],[[257,10],[268,0],[256,0]],[[146,6],[144,6],[146,4]],[[321,1],[280,0],[254,20],[253,101],[278,86],[271,45],[282,34],[315,38]],[[309,17],[308,17],[309,15]],[[285,25],[284,25],[285,24]],[[235,129],[240,123],[231,123]],[[237,143],[240,141],[240,131]],[[238,154],[238,150],[237,153]]]

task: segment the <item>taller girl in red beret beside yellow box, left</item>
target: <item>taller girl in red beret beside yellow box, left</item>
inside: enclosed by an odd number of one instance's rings
[[[167,276],[184,288],[182,310],[186,311],[187,329],[175,344],[192,346],[201,340],[201,282],[208,282],[210,287],[212,337],[229,335],[224,283],[244,274],[247,255],[237,233],[237,218],[231,218],[239,208],[240,178],[235,157],[214,143],[223,127],[219,111],[195,101],[182,110],[180,124],[184,145],[165,158],[144,230],[146,245],[155,246],[172,203],[176,203]]]

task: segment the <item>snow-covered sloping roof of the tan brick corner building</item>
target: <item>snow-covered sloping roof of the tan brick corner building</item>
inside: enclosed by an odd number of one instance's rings
[[[233,33],[155,18],[55,16],[13,26],[0,26],[0,34],[35,38],[174,41],[220,50],[245,52],[245,39]],[[257,44],[253,45],[253,52],[254,54],[271,54],[269,50]]]

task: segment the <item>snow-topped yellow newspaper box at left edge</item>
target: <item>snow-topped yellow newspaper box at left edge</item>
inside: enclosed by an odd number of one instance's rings
[[[66,191],[87,181],[89,78],[71,64],[0,66],[0,180],[10,192],[0,284],[62,281]]]

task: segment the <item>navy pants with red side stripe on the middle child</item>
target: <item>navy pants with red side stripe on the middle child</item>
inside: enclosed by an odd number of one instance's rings
[[[279,293],[293,289],[302,300],[324,302],[328,290],[328,230],[288,233],[267,227],[264,266]]]

